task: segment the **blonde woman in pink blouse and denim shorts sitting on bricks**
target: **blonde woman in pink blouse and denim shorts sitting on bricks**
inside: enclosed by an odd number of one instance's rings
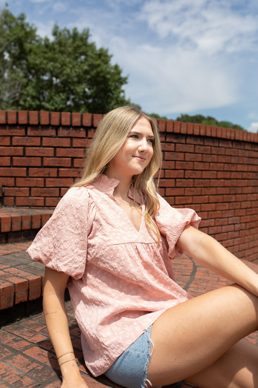
[[[43,308],[62,388],[85,388],[69,336],[68,286],[94,376],[133,388],[184,379],[203,388],[258,386],[258,275],[198,231],[191,209],[156,192],[161,167],[155,121],[121,107],[104,116],[82,179],[28,249],[46,265]],[[133,180],[133,184],[132,184]],[[191,298],[170,259],[186,251],[236,284]]]

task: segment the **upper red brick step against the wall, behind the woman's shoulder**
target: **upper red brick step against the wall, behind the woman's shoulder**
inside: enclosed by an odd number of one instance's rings
[[[0,244],[33,239],[53,211],[53,208],[0,207]]]

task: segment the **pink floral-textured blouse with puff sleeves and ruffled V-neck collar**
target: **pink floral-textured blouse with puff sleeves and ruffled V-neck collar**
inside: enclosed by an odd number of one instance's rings
[[[33,260],[70,275],[67,286],[82,331],[82,350],[94,376],[105,372],[167,308],[191,298],[177,283],[171,260],[191,209],[174,209],[159,196],[155,221],[161,241],[142,221],[139,231],[113,197],[119,181],[101,175],[73,187],[27,250]],[[133,187],[128,193],[133,198]]]

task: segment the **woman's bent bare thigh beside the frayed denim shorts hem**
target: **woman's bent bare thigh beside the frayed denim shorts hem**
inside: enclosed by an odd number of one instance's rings
[[[196,384],[198,379],[201,387],[213,388],[215,386],[209,383],[208,376],[212,378],[213,373],[218,383],[222,366],[228,376],[241,373],[240,365],[237,367],[236,362],[233,363],[232,360],[241,353],[243,342],[230,351],[229,349],[257,329],[258,298],[236,284],[197,296],[172,307],[152,325],[151,338],[154,350],[147,379],[152,386],[168,385],[183,379]],[[248,349],[245,350],[248,354],[252,353],[246,361],[246,368],[251,371],[251,379],[257,383],[257,349],[255,346],[246,346],[245,349]],[[235,356],[236,350],[238,353]],[[230,358],[227,358],[229,355]],[[255,371],[253,364],[250,364],[252,357],[257,365]],[[220,388],[229,386],[255,387],[248,382],[246,385],[222,384]]]

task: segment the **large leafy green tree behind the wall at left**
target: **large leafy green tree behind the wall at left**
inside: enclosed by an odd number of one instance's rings
[[[130,104],[127,77],[89,29],[53,28],[53,39],[7,9],[0,14],[0,109],[105,113]]]

